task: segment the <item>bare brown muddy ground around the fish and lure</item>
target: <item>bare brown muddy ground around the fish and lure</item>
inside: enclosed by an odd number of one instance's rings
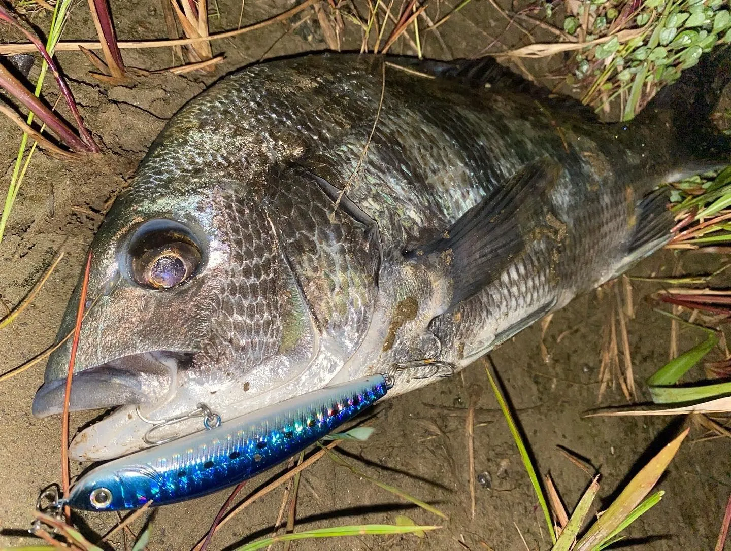
[[[159,3],[151,1],[113,2],[120,37],[162,37],[164,25]],[[244,23],[289,7],[283,1],[246,3]],[[220,18],[213,28],[234,28],[238,24],[238,1],[220,0]],[[446,11],[446,7],[442,6]],[[443,11],[443,12],[444,12]],[[310,16],[292,31],[277,24],[225,40],[215,50],[224,50],[227,61],[213,75],[157,75],[132,87],[99,85],[88,75],[85,58],[76,53],[58,56],[69,75],[88,126],[107,148],[94,161],[74,164],[37,154],[26,183],[18,196],[7,234],[0,244],[0,297],[14,305],[31,289],[61,246],[67,257],[48,281],[37,300],[12,327],[0,331],[0,372],[19,365],[53,342],[66,302],[77,281],[83,259],[102,212],[110,199],[124,187],[137,162],[162,125],[187,99],[199,93],[216,77],[262,56],[321,49],[322,33]],[[43,27],[48,19],[38,17]],[[425,39],[429,56],[448,58],[473,55],[491,45],[507,22],[489,4],[472,4],[442,26],[444,50],[433,37]],[[93,37],[86,3],[72,12],[66,37]],[[512,36],[505,34],[502,40]],[[515,44],[520,37],[513,37]],[[350,47],[359,38],[352,37]],[[346,44],[347,45],[347,44]],[[400,53],[400,45],[395,53]],[[409,53],[404,47],[403,53]],[[170,50],[126,50],[132,66],[148,69],[170,66]],[[558,60],[560,62],[560,60]],[[37,70],[37,67],[36,69]],[[548,66],[542,67],[545,74]],[[53,101],[53,88],[48,88]],[[0,120],[0,166],[3,181],[10,178],[17,149],[18,132]],[[675,262],[668,252],[648,259],[635,274],[670,273]],[[727,259],[702,255],[686,256],[684,265],[708,272]],[[651,286],[635,289],[637,317],[629,322],[629,337],[640,400],[646,399],[642,381],[667,361],[670,322],[654,313],[641,300]],[[520,425],[542,474],[553,477],[564,503],[572,508],[588,485],[589,477],[561,453],[561,447],[586,458],[602,473],[602,504],[607,504],[629,477],[659,446],[681,430],[686,419],[584,418],[596,407],[599,349],[602,324],[610,300],[596,294],[580,297],[556,314],[545,335],[550,353],[545,362],[540,350],[540,327],[524,331],[493,353],[496,369],[518,411]],[[124,332],[126,328],[120,327]],[[702,335],[681,331],[681,350]],[[39,489],[58,481],[58,419],[39,421],[31,417],[34,392],[42,382],[42,365],[0,384],[0,545],[29,543],[24,538]],[[477,485],[474,518],[469,511],[468,460],[465,418],[473,385],[482,391],[477,404],[474,447],[477,474],[486,474],[488,487]],[[607,392],[602,405],[624,403],[621,392]],[[90,415],[72,416],[72,427],[87,422]],[[523,471],[504,419],[496,410],[478,362],[461,376],[440,381],[423,390],[382,403],[376,408],[375,435],[365,444],[342,446],[352,463],[388,484],[428,501],[450,518],[434,517],[404,504],[331,460],[320,460],[302,477],[297,511],[297,529],[350,523],[393,523],[405,514],[417,523],[443,525],[425,539],[401,536],[376,539],[364,536],[330,543],[298,542],[295,549],[346,548],[352,550],[531,550],[550,547],[537,500]],[[692,430],[678,457],[659,487],[666,495],[659,506],[637,521],[628,531],[631,549],[707,550],[713,548],[724,506],[731,491],[730,445],[727,439],[698,441],[700,430]],[[82,466],[72,466],[74,472]],[[276,473],[252,480],[244,493],[253,492]],[[185,550],[211,524],[227,492],[186,504],[160,509],[154,518],[149,549]],[[275,490],[246,514],[227,525],[211,549],[223,549],[235,542],[268,535],[281,504],[282,489]],[[83,515],[78,525],[88,533],[104,533],[114,525],[111,514]],[[134,525],[137,531],[140,523]],[[129,544],[129,542],[128,542]],[[110,549],[124,549],[121,536]]]

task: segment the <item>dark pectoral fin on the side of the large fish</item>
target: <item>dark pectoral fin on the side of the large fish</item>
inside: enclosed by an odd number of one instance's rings
[[[479,292],[525,250],[525,240],[542,216],[546,195],[561,167],[540,159],[515,172],[504,185],[467,210],[444,237],[406,251],[412,262],[444,266],[452,281],[445,311]]]

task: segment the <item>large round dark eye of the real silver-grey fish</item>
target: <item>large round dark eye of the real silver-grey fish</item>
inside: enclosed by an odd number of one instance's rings
[[[170,289],[191,278],[200,265],[200,248],[182,224],[168,221],[140,229],[129,247],[132,278],[150,289]],[[148,223],[149,224],[149,223]]]

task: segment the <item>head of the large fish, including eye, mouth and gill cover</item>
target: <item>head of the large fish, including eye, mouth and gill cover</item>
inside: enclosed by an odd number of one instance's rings
[[[77,434],[75,459],[201,430],[202,411],[225,421],[317,390],[365,338],[380,258],[367,224],[344,207],[331,216],[301,172],[166,157],[181,149],[148,155],[91,244],[69,408],[116,409]],[[80,285],[36,417],[63,409],[79,298]]]

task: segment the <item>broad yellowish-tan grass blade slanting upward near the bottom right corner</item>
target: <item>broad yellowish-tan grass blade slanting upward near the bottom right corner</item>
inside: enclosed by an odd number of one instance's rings
[[[635,477],[629,481],[618,498],[612,502],[609,508],[596,520],[596,523],[589,528],[586,535],[577,543],[574,551],[592,551],[606,542],[616,529],[635,511],[645,495],[656,485],[660,476],[664,473],[670,460],[675,457],[683,440],[688,436],[689,428],[683,430],[680,436],[676,437],[670,444],[667,444],[660,452],[645,465]]]

